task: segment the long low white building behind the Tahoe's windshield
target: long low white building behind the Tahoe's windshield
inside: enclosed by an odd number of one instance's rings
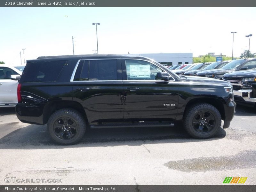
[[[141,53],[130,55],[148,57],[164,66],[193,63],[193,53]]]

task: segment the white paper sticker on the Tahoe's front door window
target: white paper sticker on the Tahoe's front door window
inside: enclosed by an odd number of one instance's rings
[[[130,65],[130,78],[150,78],[149,65]]]

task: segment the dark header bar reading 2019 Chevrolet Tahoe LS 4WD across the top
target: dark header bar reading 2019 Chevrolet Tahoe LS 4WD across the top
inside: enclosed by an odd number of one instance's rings
[[[1,0],[0,7],[256,7],[255,0]]]

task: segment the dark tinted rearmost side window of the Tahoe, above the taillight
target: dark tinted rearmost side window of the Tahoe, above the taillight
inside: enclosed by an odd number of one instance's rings
[[[23,71],[20,82],[55,82],[66,63],[66,60],[28,63]]]

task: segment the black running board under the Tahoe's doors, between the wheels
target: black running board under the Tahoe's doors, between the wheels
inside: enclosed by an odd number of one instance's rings
[[[173,127],[174,123],[106,123],[100,125],[90,125],[91,129],[93,128],[114,128],[114,127]]]

